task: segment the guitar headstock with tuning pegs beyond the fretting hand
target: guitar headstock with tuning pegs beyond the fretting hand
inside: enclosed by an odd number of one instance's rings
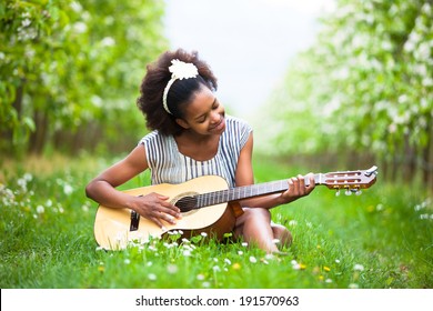
[[[376,174],[376,165],[367,170],[329,172],[322,174],[321,183],[329,189],[336,190],[336,195],[340,194],[341,189],[345,189],[348,195],[352,194],[352,192],[361,194],[361,189],[370,188],[375,183]]]

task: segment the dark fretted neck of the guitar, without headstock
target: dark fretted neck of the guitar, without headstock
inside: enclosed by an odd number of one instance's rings
[[[322,184],[323,174],[314,174],[315,184]],[[305,184],[310,184],[310,180],[305,178]],[[261,197],[265,194],[281,193],[289,189],[288,180],[278,180],[251,185],[235,187],[232,189],[220,190],[209,193],[195,195],[197,208],[204,208],[215,204],[221,204],[231,201],[239,201],[249,198]]]

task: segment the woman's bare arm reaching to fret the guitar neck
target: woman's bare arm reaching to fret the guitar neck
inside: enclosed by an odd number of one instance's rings
[[[249,185],[254,183],[254,174],[252,169],[252,150],[253,136],[250,134],[245,146],[241,150],[236,168],[236,185]],[[303,175],[298,175],[288,179],[289,189],[281,194],[270,194],[261,198],[253,198],[243,200],[241,202],[244,207],[272,209],[274,207],[286,204],[299,198],[310,194],[313,191],[315,183],[313,174],[309,174],[310,185],[305,187]]]

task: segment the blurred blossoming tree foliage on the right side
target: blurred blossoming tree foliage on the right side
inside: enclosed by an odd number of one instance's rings
[[[429,150],[432,20],[429,0],[339,1],[271,99],[265,148],[294,154],[369,150],[381,158],[405,143]]]

